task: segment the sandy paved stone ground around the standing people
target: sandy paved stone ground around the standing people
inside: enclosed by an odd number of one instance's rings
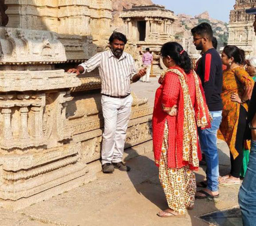
[[[158,87],[156,78],[151,81],[132,85],[138,97],[148,97],[149,104],[153,104]],[[219,199],[196,200],[195,209],[189,210],[185,218],[158,217],[156,213],[167,204],[150,151],[152,143],[145,145],[149,152],[127,161],[130,172],[99,173],[96,181],[17,212],[0,209],[0,226],[206,226],[196,216],[238,205],[239,186],[220,187]],[[223,175],[229,171],[229,151],[223,142],[218,147]],[[127,159],[136,150],[128,150]],[[196,176],[197,180],[204,178],[202,168]],[[239,226],[229,220],[223,226],[229,225]]]

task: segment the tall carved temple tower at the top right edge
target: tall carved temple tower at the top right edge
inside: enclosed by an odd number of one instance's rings
[[[256,7],[256,0],[236,0],[230,12],[229,45],[243,49],[247,58],[256,55],[256,37],[253,30],[254,15],[245,13],[246,9]]]

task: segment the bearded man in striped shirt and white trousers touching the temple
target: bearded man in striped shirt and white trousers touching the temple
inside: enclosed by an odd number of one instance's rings
[[[132,56],[124,52],[127,43],[125,35],[113,33],[109,41],[110,50],[97,53],[76,69],[68,70],[69,73],[78,75],[99,68],[104,117],[101,152],[103,173],[112,173],[114,168],[121,171],[130,170],[122,161],[131,115],[130,83],[137,82],[146,74],[145,69],[137,72]]]

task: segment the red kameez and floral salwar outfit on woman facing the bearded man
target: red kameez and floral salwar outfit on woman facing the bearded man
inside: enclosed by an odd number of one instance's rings
[[[196,89],[197,84],[193,72],[185,74],[179,67],[170,68],[170,70],[173,69],[184,75],[185,83],[183,82],[182,85],[178,74],[169,71],[165,73],[161,86],[156,90],[152,119],[153,149],[155,163],[159,167],[159,179],[165,191],[168,206],[170,209],[184,214],[186,208],[194,206],[196,180],[193,170],[198,169],[199,160],[201,160],[196,121],[201,119],[200,117],[203,114],[201,113],[201,106],[198,105],[200,101],[197,99],[197,91],[201,92],[201,103],[207,113],[204,119],[208,123],[206,126],[210,126],[210,122],[200,79],[197,79],[199,85]],[[184,86],[188,87],[189,90],[189,94],[186,96],[184,95]],[[193,108],[191,110],[193,122],[188,124],[190,125],[190,131],[192,129],[196,134],[196,137],[194,137],[196,139],[194,140],[194,150],[196,152],[192,152],[191,149],[184,150],[183,147],[184,139],[189,137],[185,132],[187,130],[184,129],[184,125],[187,125],[184,121],[187,120],[187,117],[184,118],[184,114],[187,114],[187,111],[185,111],[187,107],[184,104],[188,103],[184,98],[187,97],[190,97],[191,108]],[[164,110],[171,109],[175,104],[178,107],[177,116],[169,116]],[[191,125],[193,128],[191,128]],[[193,161],[184,160],[185,152],[189,155],[189,159],[192,159],[193,155]]]

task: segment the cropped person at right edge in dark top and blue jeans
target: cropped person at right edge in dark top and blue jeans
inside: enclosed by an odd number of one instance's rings
[[[247,9],[246,13],[254,14],[254,31],[256,34],[256,8]],[[238,193],[238,203],[242,212],[243,226],[256,225],[256,85],[254,85],[249,104],[249,127],[252,129],[252,142],[249,163]]]

